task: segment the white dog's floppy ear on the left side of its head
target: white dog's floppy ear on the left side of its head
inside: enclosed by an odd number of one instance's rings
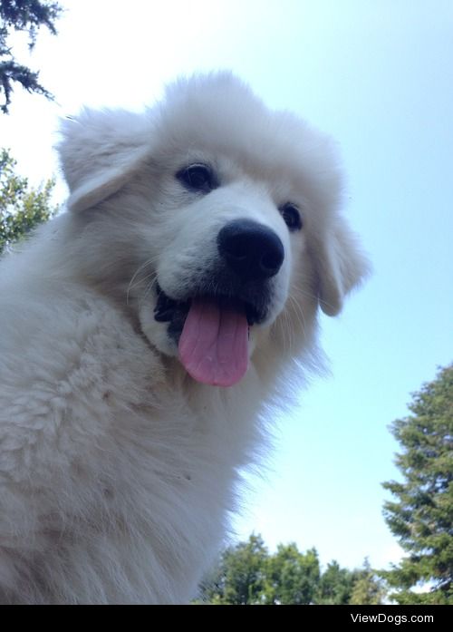
[[[63,121],[58,149],[72,211],[89,209],[115,193],[150,154],[148,114],[83,110]]]

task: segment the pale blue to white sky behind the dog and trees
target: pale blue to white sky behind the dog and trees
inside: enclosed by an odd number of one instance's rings
[[[38,184],[58,163],[59,117],[82,105],[140,110],[184,73],[231,69],[272,108],[342,149],[345,213],[373,275],[337,318],[322,316],[330,373],[290,414],[247,479],[236,538],[294,541],[382,568],[401,550],[382,517],[400,479],[389,424],[452,360],[453,3],[451,0],[60,0],[56,37],[29,55],[55,102],[14,92],[0,146]],[[66,190],[59,177],[56,196]]]

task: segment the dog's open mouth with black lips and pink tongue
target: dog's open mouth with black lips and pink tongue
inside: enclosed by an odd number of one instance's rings
[[[179,302],[158,286],[154,317],[169,322],[179,359],[198,382],[232,386],[248,366],[248,330],[263,319],[246,301],[224,296],[196,296]]]

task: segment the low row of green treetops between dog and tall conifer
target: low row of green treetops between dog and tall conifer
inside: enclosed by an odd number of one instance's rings
[[[261,536],[224,551],[217,569],[202,585],[198,604],[381,604],[385,588],[367,559],[361,569],[332,561],[321,570],[318,552],[279,544],[270,553]]]

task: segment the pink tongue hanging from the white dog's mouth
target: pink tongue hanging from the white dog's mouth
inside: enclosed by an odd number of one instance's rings
[[[198,382],[236,384],[248,365],[246,315],[194,299],[179,338],[179,359]]]

